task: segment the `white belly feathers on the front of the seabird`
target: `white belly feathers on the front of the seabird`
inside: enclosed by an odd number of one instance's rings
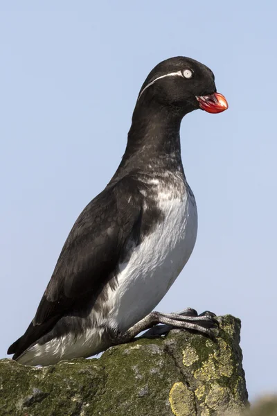
[[[166,295],[188,261],[197,236],[197,207],[189,193],[159,196],[164,219],[120,265],[118,287],[110,289],[109,327],[125,331],[139,322]]]

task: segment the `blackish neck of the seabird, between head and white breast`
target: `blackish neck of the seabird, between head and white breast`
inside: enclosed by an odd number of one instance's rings
[[[180,125],[182,116],[158,104],[134,109],[127,147],[116,176],[132,171],[157,173],[182,170]]]

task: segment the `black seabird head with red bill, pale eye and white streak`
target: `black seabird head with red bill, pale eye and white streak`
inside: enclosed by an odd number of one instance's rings
[[[137,105],[154,103],[183,116],[199,108],[210,113],[228,108],[226,98],[217,93],[211,69],[181,56],[157,64],[143,83]]]

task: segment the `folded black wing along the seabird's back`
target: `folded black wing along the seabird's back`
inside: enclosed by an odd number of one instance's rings
[[[139,243],[141,215],[142,195],[131,177],[109,185],[87,205],[64,243],[35,318],[8,349],[12,358],[99,291],[127,254],[128,241]]]

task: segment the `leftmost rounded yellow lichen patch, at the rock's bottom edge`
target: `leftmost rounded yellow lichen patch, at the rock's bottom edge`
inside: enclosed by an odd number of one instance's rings
[[[188,390],[184,383],[173,384],[169,401],[172,413],[175,416],[196,416],[193,392]]]

